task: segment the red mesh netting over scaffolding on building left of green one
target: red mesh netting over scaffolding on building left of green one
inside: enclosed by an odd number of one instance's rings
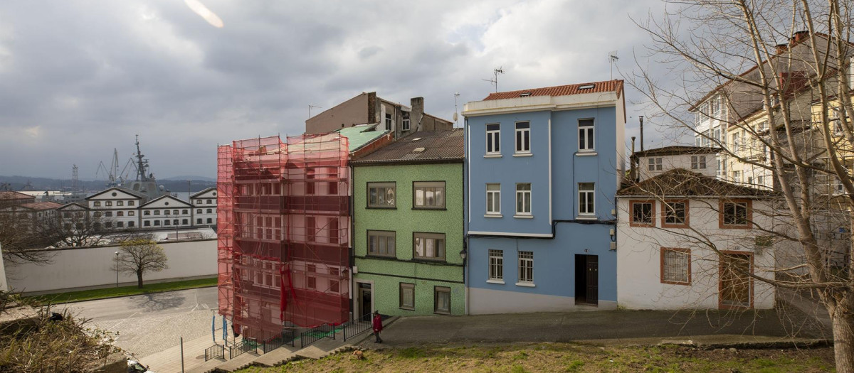
[[[255,340],[347,321],[347,138],[234,141],[218,158],[219,313]]]

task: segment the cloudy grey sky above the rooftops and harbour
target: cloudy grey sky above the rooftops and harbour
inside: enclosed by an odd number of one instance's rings
[[[194,12],[203,4],[217,27]],[[191,7],[192,5],[192,7]],[[93,179],[113,149],[158,177],[216,175],[216,146],[299,135],[361,92],[453,118],[494,90],[630,72],[658,0],[0,2],[0,175]],[[204,14],[204,12],[202,12]],[[640,63],[645,63],[640,60]],[[627,138],[640,95],[627,88]],[[460,118],[462,123],[462,118]],[[645,123],[646,128],[654,124]],[[646,129],[646,147],[658,135]],[[103,178],[101,175],[99,178]]]

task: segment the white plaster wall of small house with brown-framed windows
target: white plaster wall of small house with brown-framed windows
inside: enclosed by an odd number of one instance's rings
[[[694,198],[688,201],[687,228],[662,228],[662,204],[655,202],[656,227],[630,227],[629,201],[645,198],[618,198],[617,222],[617,304],[629,309],[715,309],[719,307],[719,259],[716,252],[704,244],[697,244],[699,233],[709,238],[718,250],[738,251],[753,255],[753,273],[763,278],[774,278],[777,253],[793,253],[791,244],[775,243],[771,248],[757,249],[756,237],[767,233],[753,229],[721,229],[719,227],[717,198]],[[785,227],[779,221],[763,217],[757,210],[771,209],[771,202],[752,201],[753,221],[761,227]],[[778,218],[779,219],[779,218]],[[699,233],[698,233],[699,232]],[[679,234],[684,233],[688,237]],[[663,284],[661,281],[661,251],[664,248],[691,250],[691,284]],[[753,307],[774,307],[775,292],[772,286],[760,280],[752,281]]]

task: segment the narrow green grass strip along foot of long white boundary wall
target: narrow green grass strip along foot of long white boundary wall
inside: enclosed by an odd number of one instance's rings
[[[122,286],[96,290],[72,291],[68,293],[47,294],[44,296],[27,296],[27,299],[39,303],[64,303],[67,301],[90,301],[93,299],[110,298],[114,296],[134,296],[137,294],[160,293],[163,291],[185,290],[216,286],[216,278],[197,278],[184,281],[173,281],[160,284],[143,284],[143,289],[137,285]]]

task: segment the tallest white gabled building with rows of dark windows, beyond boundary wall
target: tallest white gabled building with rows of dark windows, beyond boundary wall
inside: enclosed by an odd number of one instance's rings
[[[145,196],[130,189],[117,186],[86,197],[86,207],[93,216],[101,216],[106,228],[139,227],[137,209],[145,202]]]

